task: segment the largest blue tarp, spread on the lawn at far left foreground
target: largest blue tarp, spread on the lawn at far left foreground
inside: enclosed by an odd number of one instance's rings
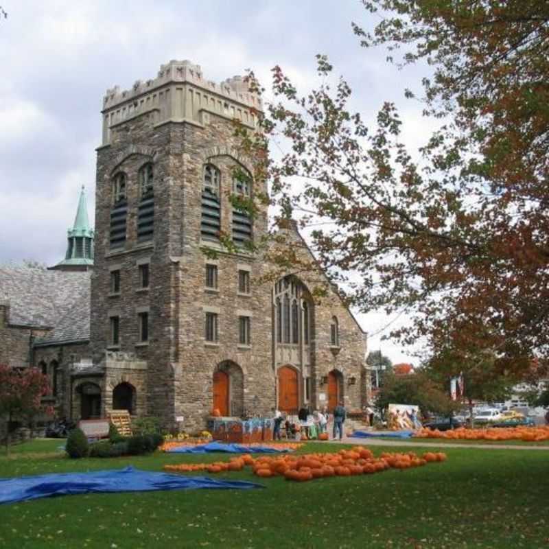
[[[244,480],[213,480],[205,476],[180,476],[126,467],[113,471],[0,478],[0,504],[49,498],[52,495],[200,488],[245,490],[264,486]]]

